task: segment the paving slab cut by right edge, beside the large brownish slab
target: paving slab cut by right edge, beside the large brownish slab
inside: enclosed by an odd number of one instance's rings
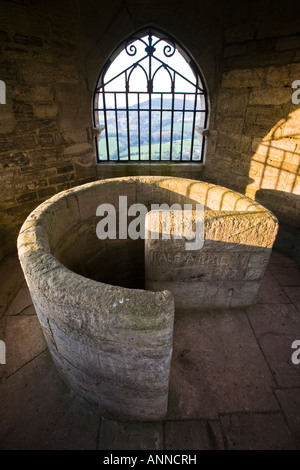
[[[249,321],[280,387],[300,386],[300,366],[291,361],[291,345],[300,339],[300,315],[293,304],[255,305]]]

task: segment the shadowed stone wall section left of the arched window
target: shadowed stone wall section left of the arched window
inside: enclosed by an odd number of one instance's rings
[[[0,258],[49,196],[96,178],[76,2],[0,2]]]

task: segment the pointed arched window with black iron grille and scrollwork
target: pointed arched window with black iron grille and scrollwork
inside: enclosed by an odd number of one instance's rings
[[[106,62],[94,93],[98,162],[203,161],[208,100],[196,64],[153,28]]]

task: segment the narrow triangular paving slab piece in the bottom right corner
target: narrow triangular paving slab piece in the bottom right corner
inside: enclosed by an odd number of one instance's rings
[[[300,450],[300,388],[276,390],[276,396]]]

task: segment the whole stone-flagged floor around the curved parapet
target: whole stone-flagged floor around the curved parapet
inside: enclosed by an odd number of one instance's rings
[[[273,252],[248,309],[176,314],[164,421],[99,418],[53,366],[16,255],[0,263],[0,449],[300,449],[300,271]]]

